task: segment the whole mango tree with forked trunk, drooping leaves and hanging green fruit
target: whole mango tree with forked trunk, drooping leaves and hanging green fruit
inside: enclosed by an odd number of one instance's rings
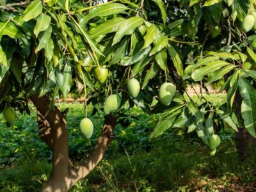
[[[0,111],[13,124],[13,109],[29,113],[28,101],[35,105],[40,138],[53,154],[42,191],[68,191],[86,177],[115,138],[118,118],[134,105],[162,114],[151,138],[182,127],[196,131],[211,155],[223,122],[255,137],[255,35],[243,23],[254,6],[249,0],[1,2]],[[186,92],[188,84],[205,88],[220,80],[223,106],[203,95],[195,103]],[[84,97],[86,138],[99,129],[87,105],[93,114],[106,113],[98,143],[77,166],[68,157],[68,109],[55,106],[72,92]]]

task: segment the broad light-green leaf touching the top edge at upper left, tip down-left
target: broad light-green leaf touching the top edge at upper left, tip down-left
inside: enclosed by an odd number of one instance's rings
[[[24,11],[21,20],[22,21],[29,21],[31,19],[35,19],[42,13],[43,5],[40,0],[35,0]]]

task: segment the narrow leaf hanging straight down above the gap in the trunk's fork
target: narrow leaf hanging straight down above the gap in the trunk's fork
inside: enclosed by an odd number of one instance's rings
[[[63,99],[66,99],[70,88],[72,85],[72,67],[70,61],[68,60],[64,70],[63,70],[63,86],[61,87],[61,92],[63,94]]]

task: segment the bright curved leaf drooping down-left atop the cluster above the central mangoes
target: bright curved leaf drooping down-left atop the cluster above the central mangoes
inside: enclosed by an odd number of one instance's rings
[[[112,45],[115,45],[117,42],[119,42],[123,36],[131,35],[136,28],[140,27],[141,24],[143,24],[143,22],[144,19],[141,17],[131,17],[130,19],[122,22],[122,25],[120,25],[116,31],[116,35],[113,39]]]

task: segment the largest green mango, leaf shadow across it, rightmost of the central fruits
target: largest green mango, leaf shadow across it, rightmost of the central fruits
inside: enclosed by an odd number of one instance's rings
[[[172,83],[163,83],[159,89],[159,100],[164,106],[170,105],[176,91],[176,86]]]

